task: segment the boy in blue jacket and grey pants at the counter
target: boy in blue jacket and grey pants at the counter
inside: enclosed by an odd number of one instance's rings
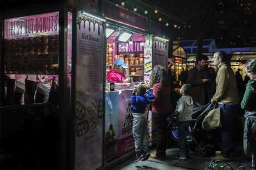
[[[135,144],[136,158],[135,163],[142,159],[146,161],[150,154],[148,153],[148,138],[147,138],[147,119],[145,108],[153,100],[154,96],[151,91],[146,90],[142,84],[137,85],[131,94],[131,113],[133,116],[132,135]]]

